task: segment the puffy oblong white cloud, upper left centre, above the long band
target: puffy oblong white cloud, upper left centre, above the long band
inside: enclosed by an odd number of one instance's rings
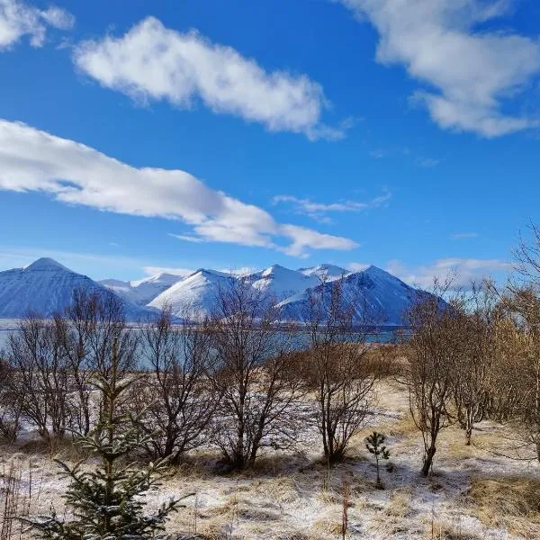
[[[271,131],[304,133],[310,139],[343,136],[343,128],[321,123],[329,103],[308,76],[266,72],[235,49],[196,31],[167,29],[154,17],[120,38],[84,41],[73,58],[101,85],[135,100],[166,100],[190,108],[199,99],[213,112],[257,121]]]

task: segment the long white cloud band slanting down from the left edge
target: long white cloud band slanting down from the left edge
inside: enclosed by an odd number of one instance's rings
[[[262,208],[216,191],[182,170],[132,167],[83,144],[0,120],[0,189],[49,193],[103,211],[181,220],[204,241],[269,247],[353,249],[355,241],[278,223]]]

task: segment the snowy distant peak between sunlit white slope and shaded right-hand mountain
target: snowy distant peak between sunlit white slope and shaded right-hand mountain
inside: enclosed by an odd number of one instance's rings
[[[268,297],[275,298],[276,302],[320,283],[316,275],[304,275],[279,265],[248,275],[246,280]]]

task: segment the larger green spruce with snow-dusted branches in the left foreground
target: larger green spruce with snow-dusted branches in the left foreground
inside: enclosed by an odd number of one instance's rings
[[[142,540],[164,530],[179,500],[169,500],[147,516],[140,495],[157,488],[166,462],[161,460],[143,469],[119,463],[144,442],[135,419],[121,411],[119,398],[125,397],[133,382],[133,378],[119,377],[114,341],[111,370],[94,378],[102,397],[98,423],[78,441],[99,457],[100,464],[85,471],[83,462],[70,467],[57,460],[71,481],[64,495],[67,518],[58,518],[54,509],[50,516],[32,518],[29,521],[37,536],[46,540]]]

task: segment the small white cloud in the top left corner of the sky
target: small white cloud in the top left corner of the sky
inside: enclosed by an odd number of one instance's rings
[[[29,36],[32,47],[42,47],[47,26],[70,30],[74,24],[75,17],[56,5],[41,11],[20,0],[0,0],[0,51],[23,36]]]

